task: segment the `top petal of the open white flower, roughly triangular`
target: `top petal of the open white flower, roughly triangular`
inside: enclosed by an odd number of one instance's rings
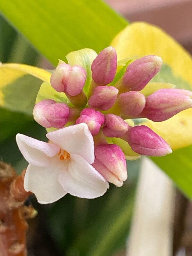
[[[87,124],[76,124],[49,132],[47,137],[69,154],[81,155],[88,163],[94,162],[94,142]]]

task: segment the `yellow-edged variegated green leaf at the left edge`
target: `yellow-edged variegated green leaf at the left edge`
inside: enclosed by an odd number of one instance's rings
[[[0,106],[32,115],[35,99],[43,81],[50,81],[51,73],[24,64],[0,65]]]

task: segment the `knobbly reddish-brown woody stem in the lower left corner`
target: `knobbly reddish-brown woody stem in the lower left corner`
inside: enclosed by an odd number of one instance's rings
[[[34,216],[32,207],[23,206],[31,192],[23,187],[25,170],[17,176],[8,164],[0,162],[0,256],[26,256],[25,218]]]

